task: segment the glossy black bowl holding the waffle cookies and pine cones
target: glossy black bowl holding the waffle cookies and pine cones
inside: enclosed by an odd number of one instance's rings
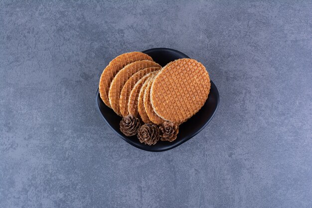
[[[170,61],[179,59],[179,58],[189,58],[184,53],[181,53],[177,50],[170,48],[152,48],[143,51],[144,53],[150,55],[155,62],[159,63],[161,66],[166,65]],[[156,145],[149,146],[140,143],[137,136],[126,137],[119,130],[119,122],[121,117],[119,117],[111,108],[107,107],[99,94],[99,89],[96,93],[96,106],[99,109],[101,115],[103,116],[106,123],[126,142],[129,144],[146,151],[151,152],[161,152],[170,150],[179,146],[180,144],[186,142],[190,138],[198,134],[213,118],[214,114],[217,111],[219,105],[219,92],[217,87],[211,81],[210,93],[207,101],[204,106],[189,120],[181,124],[179,127],[179,133],[177,138],[173,142],[163,142],[158,141]]]

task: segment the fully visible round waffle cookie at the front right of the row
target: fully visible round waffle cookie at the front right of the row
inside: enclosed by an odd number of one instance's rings
[[[162,119],[182,123],[199,111],[209,91],[206,68],[194,59],[182,58],[168,63],[156,75],[151,103]]]

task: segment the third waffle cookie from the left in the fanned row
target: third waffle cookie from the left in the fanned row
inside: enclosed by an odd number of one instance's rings
[[[153,71],[156,71],[156,70],[159,70],[159,69],[160,69],[159,67],[149,67],[149,68],[142,69],[142,70],[138,71],[137,73],[135,73],[134,75],[132,75],[127,80],[123,89],[121,90],[120,98],[119,98],[119,109],[120,109],[121,114],[124,117],[129,115],[128,101],[129,101],[130,93],[131,93],[133,87],[135,86],[135,84],[142,77],[144,77],[146,74],[153,72]]]

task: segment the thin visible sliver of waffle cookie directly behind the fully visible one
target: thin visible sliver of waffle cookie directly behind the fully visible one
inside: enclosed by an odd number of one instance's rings
[[[151,104],[150,93],[151,93],[151,87],[152,87],[153,81],[154,81],[154,78],[151,78],[144,92],[144,98],[143,98],[144,109],[149,119],[154,124],[162,124],[164,120],[160,118],[159,116],[157,116]]]

